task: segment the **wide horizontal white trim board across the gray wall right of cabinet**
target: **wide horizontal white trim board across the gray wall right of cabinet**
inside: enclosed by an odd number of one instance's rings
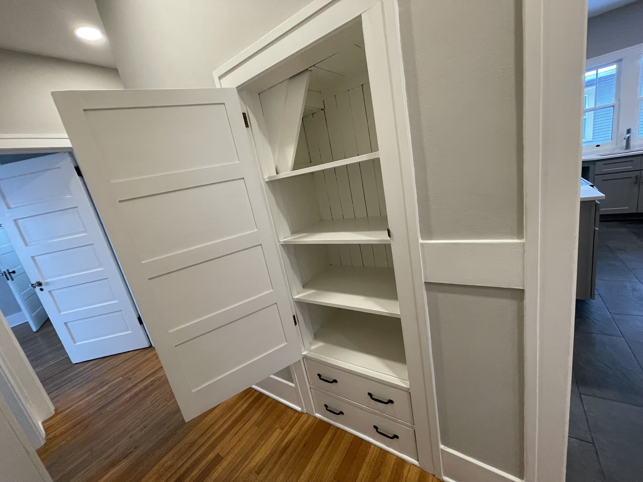
[[[519,289],[525,286],[523,240],[421,241],[420,245],[424,281]]]

